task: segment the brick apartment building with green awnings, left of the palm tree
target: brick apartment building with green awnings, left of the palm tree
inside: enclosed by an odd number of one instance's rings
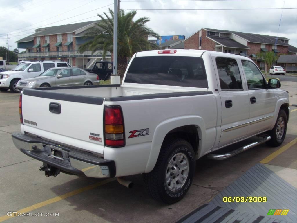
[[[99,21],[73,23],[36,29],[35,33],[16,41],[18,48],[26,49],[19,53],[19,60],[61,59],[72,66],[89,68],[97,60],[102,60],[102,51],[80,53],[80,45],[90,40],[84,39],[86,32]],[[111,54],[105,56],[111,60]]]

